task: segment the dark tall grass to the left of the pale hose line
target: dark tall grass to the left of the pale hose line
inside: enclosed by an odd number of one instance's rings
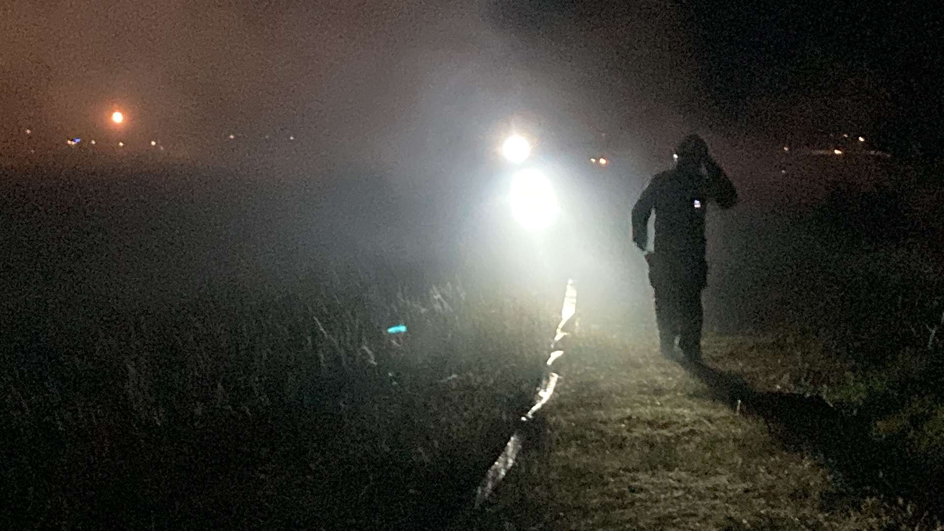
[[[5,527],[415,528],[500,451],[553,315],[333,281],[4,322]]]

